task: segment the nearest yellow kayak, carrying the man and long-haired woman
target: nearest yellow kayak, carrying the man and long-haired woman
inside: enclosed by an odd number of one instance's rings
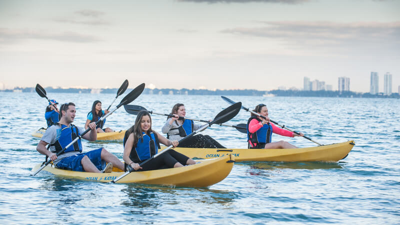
[[[227,154],[219,158],[197,160],[197,162],[200,163],[177,168],[131,172],[118,180],[117,183],[206,187],[223,180],[229,174],[233,166],[234,156]],[[40,166],[41,164],[35,165],[32,171],[36,171]],[[97,182],[109,182],[123,174],[118,168],[113,168],[113,171],[110,173],[77,172],[54,168],[50,164],[42,170],[55,175]]]

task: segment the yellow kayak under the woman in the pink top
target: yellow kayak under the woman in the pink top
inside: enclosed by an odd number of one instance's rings
[[[347,156],[354,141],[326,144],[316,147],[290,149],[188,148],[176,147],[188,157],[216,158],[233,154],[235,161],[338,161]],[[165,147],[161,147],[162,149]]]

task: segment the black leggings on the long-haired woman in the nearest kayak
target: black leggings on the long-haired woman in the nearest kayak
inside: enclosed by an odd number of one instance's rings
[[[150,159],[146,163],[140,165],[142,169],[139,169],[138,171],[173,168],[176,162],[185,165],[187,159],[189,159],[189,157],[187,157],[186,155],[181,154],[173,149],[168,149],[166,150],[166,152],[163,152],[157,157]],[[130,166],[128,166],[128,170],[129,169],[131,169]]]

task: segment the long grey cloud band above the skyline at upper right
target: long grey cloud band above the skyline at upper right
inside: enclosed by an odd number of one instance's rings
[[[386,47],[399,50],[400,22],[263,21],[259,27],[235,27],[223,33],[270,38],[293,47]]]

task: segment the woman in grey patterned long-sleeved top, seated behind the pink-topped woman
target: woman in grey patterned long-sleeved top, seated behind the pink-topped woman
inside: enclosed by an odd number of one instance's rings
[[[179,119],[186,115],[184,104],[176,103],[172,107],[172,117],[168,116],[164,126],[161,128],[166,133],[166,138],[170,140],[180,140],[201,127],[190,119]],[[218,141],[208,135],[197,134],[179,143],[178,147],[196,147],[196,148],[225,148]]]

